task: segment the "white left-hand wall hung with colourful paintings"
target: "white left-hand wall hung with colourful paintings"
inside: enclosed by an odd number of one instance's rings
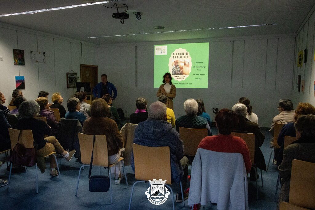
[[[0,34],[0,90],[7,99],[4,105],[12,99],[15,76],[24,76],[22,92],[26,99],[36,99],[38,92],[45,90],[51,102],[51,95],[60,92],[66,107],[66,100],[76,91],[67,88],[66,73],[73,70],[80,76],[80,63],[98,65],[97,46],[89,43],[7,25],[0,25]],[[13,49],[24,50],[25,65],[13,64]],[[31,63],[30,51],[37,50],[46,53],[45,63]]]

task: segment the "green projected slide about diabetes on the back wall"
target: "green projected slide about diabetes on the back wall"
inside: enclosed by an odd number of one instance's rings
[[[208,88],[209,43],[154,45],[154,88],[169,72],[176,88]]]

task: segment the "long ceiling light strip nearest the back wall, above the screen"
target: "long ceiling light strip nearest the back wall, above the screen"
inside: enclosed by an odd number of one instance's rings
[[[173,32],[183,32],[183,31],[202,31],[202,30],[212,30],[212,29],[244,28],[244,27],[272,26],[272,25],[279,25],[279,24],[278,23],[271,23],[271,24],[259,24],[259,25],[249,25],[249,26],[231,26],[231,27],[221,27],[221,28],[187,29],[187,30],[178,30],[178,31],[156,31],[156,32],[138,33],[138,34],[120,34],[120,35],[86,37],[86,38],[92,39],[92,38],[105,38],[105,37],[123,37],[123,36],[134,36],[134,35],[143,35],[143,34],[173,33]]]

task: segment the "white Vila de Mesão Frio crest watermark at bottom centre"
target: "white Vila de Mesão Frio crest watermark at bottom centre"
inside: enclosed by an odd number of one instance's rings
[[[153,179],[149,180],[150,187],[145,192],[148,196],[148,200],[154,205],[161,205],[166,200],[168,195],[170,194],[169,190],[165,187],[166,180],[162,179]]]

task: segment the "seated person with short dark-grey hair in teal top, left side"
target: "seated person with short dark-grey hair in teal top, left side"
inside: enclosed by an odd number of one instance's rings
[[[71,98],[67,100],[68,112],[66,113],[66,119],[79,120],[83,126],[83,122],[86,120],[86,116],[81,113],[80,101],[77,98]]]

